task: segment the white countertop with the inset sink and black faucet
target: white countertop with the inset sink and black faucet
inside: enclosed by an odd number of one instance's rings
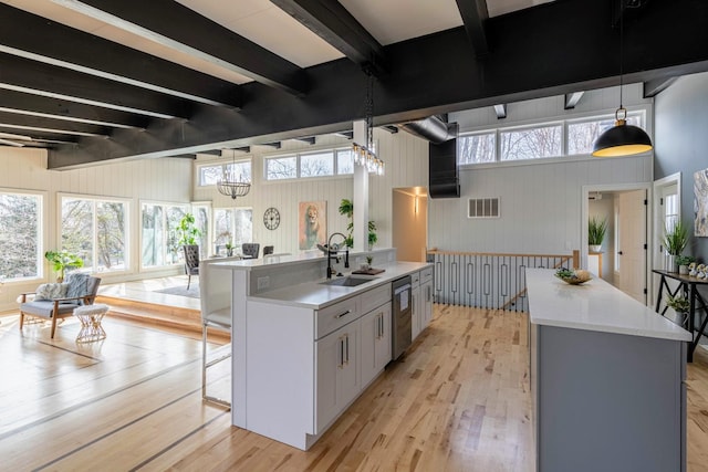
[[[357,286],[323,285],[322,282],[326,282],[327,280],[320,279],[313,282],[304,282],[284,289],[251,295],[248,300],[320,310],[428,266],[433,266],[433,264],[426,262],[395,262],[388,265],[377,265],[376,269],[385,270],[385,272],[377,275],[355,274],[354,276],[356,277],[372,279],[371,282]]]

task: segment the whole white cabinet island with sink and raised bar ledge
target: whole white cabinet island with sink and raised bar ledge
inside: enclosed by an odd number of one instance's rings
[[[210,264],[231,292],[233,424],[306,450],[383,371],[391,282],[431,266],[396,262],[395,250],[375,251],[373,266],[385,272],[336,286],[317,254]]]

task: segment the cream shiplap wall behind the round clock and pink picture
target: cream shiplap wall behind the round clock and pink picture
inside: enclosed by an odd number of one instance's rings
[[[369,176],[369,219],[378,228],[378,248],[392,245],[393,189],[399,187],[427,186],[428,182],[428,143],[408,133],[391,134],[374,129],[374,139],[378,156],[386,162],[384,176]],[[238,198],[236,203],[221,196],[215,187],[198,187],[195,180],[195,201],[210,201],[212,208],[232,206],[253,209],[253,241],[263,245],[274,245],[275,253],[300,252],[298,248],[298,206],[301,201],[327,202],[327,233],[346,233],[347,220],[340,216],[339,207],[343,198],[353,199],[352,176],[341,178],[309,178],[287,181],[266,181],[263,178],[263,158],[293,153],[308,153],[317,149],[348,147],[351,140],[326,135],[317,137],[315,145],[288,140],[281,149],[266,146],[252,147],[253,154],[236,154],[236,159],[252,159],[253,186],[249,195]],[[214,162],[230,162],[231,157],[215,159],[212,156],[199,156],[195,166]],[[198,172],[195,167],[195,179]],[[280,211],[280,227],[270,231],[263,225],[263,212],[269,207]],[[354,210],[356,211],[356,209]]]

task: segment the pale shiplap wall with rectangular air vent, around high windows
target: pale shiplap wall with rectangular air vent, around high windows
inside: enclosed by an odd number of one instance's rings
[[[574,111],[562,97],[509,104],[508,117],[497,119],[491,107],[449,115],[460,133],[572,119],[614,113],[617,88],[586,92]],[[652,133],[652,102],[639,85],[624,90],[627,109],[646,109]],[[564,254],[581,244],[582,186],[650,182],[652,156],[593,158],[576,156],[539,161],[480,165],[460,169],[461,197],[433,199],[428,208],[430,248],[446,251]],[[499,197],[501,218],[468,219],[469,198]]]

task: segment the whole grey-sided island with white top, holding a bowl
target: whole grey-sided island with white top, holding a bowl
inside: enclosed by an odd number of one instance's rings
[[[690,334],[600,279],[525,274],[537,470],[685,471]]]

